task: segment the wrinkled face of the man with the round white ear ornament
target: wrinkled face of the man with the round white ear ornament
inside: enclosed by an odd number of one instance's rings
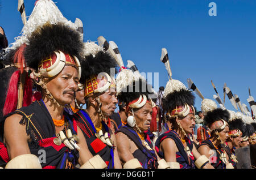
[[[152,119],[152,106],[145,104],[142,108],[134,112],[136,124],[141,131],[147,131],[150,128],[150,121]]]

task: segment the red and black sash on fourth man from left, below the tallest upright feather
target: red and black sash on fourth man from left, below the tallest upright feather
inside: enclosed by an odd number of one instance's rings
[[[187,152],[184,149],[184,145],[181,142],[179,135],[177,135],[177,133],[175,131],[169,130],[167,132],[164,132],[163,134],[161,134],[158,137],[158,139],[155,142],[155,150],[158,153],[158,156],[160,158],[164,158],[164,153],[162,151],[160,151],[160,144],[166,138],[171,138],[172,140],[174,140],[174,142],[177,146],[177,149],[179,151],[178,154],[176,153],[176,161],[179,162],[181,168],[195,169],[195,164],[193,161],[194,158],[188,156]],[[189,147],[190,151],[192,152],[193,143],[191,142],[191,140],[189,138],[186,138],[185,140],[186,140],[187,146]],[[177,157],[177,155],[178,155],[178,157]],[[188,158],[189,158],[189,160],[188,160]]]

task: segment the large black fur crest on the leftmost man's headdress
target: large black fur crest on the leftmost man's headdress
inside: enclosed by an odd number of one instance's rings
[[[79,32],[61,23],[44,24],[32,32],[28,41],[24,58],[28,67],[35,70],[38,69],[39,62],[54,51],[61,50],[65,54],[75,55],[81,59],[80,52],[84,48]]]

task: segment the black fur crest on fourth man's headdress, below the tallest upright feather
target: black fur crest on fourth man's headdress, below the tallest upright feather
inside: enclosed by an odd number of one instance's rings
[[[164,112],[176,109],[176,106],[184,106],[188,104],[189,106],[194,106],[195,96],[192,91],[181,89],[179,92],[174,91],[163,98],[163,108]]]

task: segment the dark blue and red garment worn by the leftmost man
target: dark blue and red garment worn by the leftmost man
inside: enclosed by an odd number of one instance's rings
[[[39,157],[42,168],[64,169],[75,167],[79,152],[76,149],[71,151],[63,143],[60,145],[53,143],[53,139],[56,138],[55,125],[43,100],[35,101],[30,106],[15,110],[5,118],[13,114],[22,115],[20,124],[26,125],[27,134],[31,138],[31,142],[28,142],[28,147],[31,154]],[[76,122],[72,121],[71,117],[66,113],[64,113],[64,117],[72,134],[77,134]],[[6,155],[5,145],[1,143],[0,148],[2,163],[6,164],[9,161],[9,157]]]

